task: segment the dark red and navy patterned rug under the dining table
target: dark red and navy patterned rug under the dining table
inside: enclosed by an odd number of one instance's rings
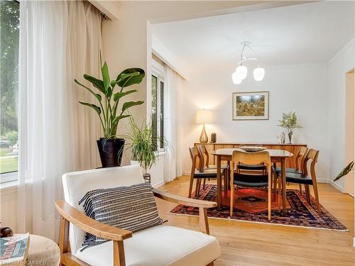
[[[217,186],[215,184],[206,184],[204,189],[200,189],[200,195],[195,199],[203,199],[206,201],[216,201]],[[223,194],[222,194],[223,196]],[[229,216],[229,194],[223,198],[223,206],[221,209],[208,209],[207,215],[211,218],[224,218],[237,221],[251,221],[257,223],[272,223],[283,226],[302,226],[308,228],[323,228],[337,231],[348,231],[348,229],[340,223],[337,218],[321,206],[321,214],[317,213],[317,205],[312,197],[312,204],[308,204],[305,196],[300,194],[299,190],[288,189],[287,197],[287,214],[283,216],[278,212],[278,201],[275,198],[272,204],[271,221],[268,221],[268,193],[264,189],[239,188],[235,193],[234,215]],[[182,214],[198,216],[199,209],[178,205],[170,211],[171,214]]]

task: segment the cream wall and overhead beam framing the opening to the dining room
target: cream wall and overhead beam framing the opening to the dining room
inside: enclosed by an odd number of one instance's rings
[[[104,9],[110,9],[111,2],[100,1]],[[111,77],[129,67],[146,70],[146,79],[136,86],[138,94],[125,98],[128,101],[145,100],[145,104],[130,109],[140,124],[151,110],[151,23],[178,21],[181,19],[216,16],[275,6],[300,4],[292,1],[122,1],[114,15],[118,20],[102,22],[103,58],[109,65]],[[119,127],[124,134],[125,125]],[[123,157],[124,165],[129,164],[129,153]]]

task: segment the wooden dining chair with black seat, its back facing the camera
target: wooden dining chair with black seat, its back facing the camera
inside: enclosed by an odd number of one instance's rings
[[[240,163],[245,165],[261,165],[266,167],[266,174],[244,174],[239,171]],[[236,172],[234,172],[236,169]],[[231,157],[231,205],[230,216],[233,216],[234,185],[243,187],[268,187],[268,219],[271,220],[271,158],[267,151],[246,153],[234,150]],[[280,189],[279,189],[280,190]],[[280,199],[280,197],[279,197]]]

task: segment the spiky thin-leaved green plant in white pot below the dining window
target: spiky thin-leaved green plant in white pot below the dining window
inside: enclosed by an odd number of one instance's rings
[[[170,143],[165,138],[156,135],[151,124],[143,124],[139,127],[132,117],[129,120],[130,131],[125,138],[129,141],[126,147],[131,149],[131,164],[141,165],[146,174],[158,159],[158,143],[163,149],[170,148]]]

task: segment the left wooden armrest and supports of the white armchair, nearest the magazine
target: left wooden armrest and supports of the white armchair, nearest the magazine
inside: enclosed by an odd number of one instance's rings
[[[62,216],[60,221],[60,265],[87,265],[69,252],[69,223],[74,224],[83,231],[96,235],[99,238],[113,240],[114,266],[126,265],[124,259],[124,239],[131,238],[129,230],[108,226],[81,213],[65,201],[56,201],[55,208]]]

